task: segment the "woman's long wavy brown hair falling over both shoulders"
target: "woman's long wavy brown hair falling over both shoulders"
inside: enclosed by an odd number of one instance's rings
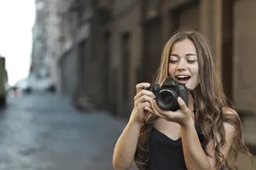
[[[200,71],[200,84],[193,90],[195,94],[195,105],[197,105],[198,123],[204,135],[204,144],[213,142],[215,144],[216,167],[224,166],[227,170],[237,169],[236,161],[240,152],[250,155],[244,142],[242,124],[237,114],[225,114],[223,108],[232,108],[224,94],[220,78],[217,76],[211,50],[206,39],[197,31],[177,31],[172,38],[166,42],[160,60],[160,68],[154,78],[154,83],[162,83],[168,77],[169,55],[175,42],[189,38],[195,44]],[[233,111],[233,110],[230,110]],[[148,137],[151,133],[153,123],[158,117],[148,114],[145,117],[147,123],[143,124],[139,135],[135,162],[140,170],[146,169],[150,153],[148,150]],[[226,159],[220,150],[226,144],[224,122],[236,127],[236,133],[230,151]],[[205,150],[207,156],[209,153]],[[250,155],[251,156],[251,155]]]

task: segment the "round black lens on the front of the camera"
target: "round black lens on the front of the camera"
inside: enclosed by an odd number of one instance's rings
[[[177,95],[172,90],[161,90],[156,96],[157,105],[165,111],[171,111],[177,105]]]

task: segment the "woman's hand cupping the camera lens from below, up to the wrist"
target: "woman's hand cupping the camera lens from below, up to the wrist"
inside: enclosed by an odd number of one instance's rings
[[[186,127],[193,121],[191,117],[191,111],[180,97],[177,98],[177,103],[180,106],[180,109],[177,111],[164,111],[156,104],[155,99],[150,100],[151,108],[149,109],[156,116],[160,116],[166,121],[177,122],[182,127]]]

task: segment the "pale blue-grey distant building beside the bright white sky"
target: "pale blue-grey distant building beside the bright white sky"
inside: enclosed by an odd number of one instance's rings
[[[49,86],[60,87],[61,17],[58,0],[36,0],[36,20],[32,28],[32,62],[29,77],[35,81],[47,80]],[[42,81],[41,81],[42,82]],[[45,81],[44,81],[45,82]],[[45,85],[45,88],[48,85]]]

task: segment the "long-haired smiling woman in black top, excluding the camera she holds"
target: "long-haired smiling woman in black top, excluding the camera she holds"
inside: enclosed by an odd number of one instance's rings
[[[126,170],[135,161],[146,170],[237,169],[238,153],[249,154],[241,121],[228,106],[210,48],[199,32],[177,31],[166,43],[155,83],[166,77],[191,89],[189,105],[178,98],[180,110],[163,111],[144,89],[150,84],[137,84],[130,120],[114,148],[113,167]]]

